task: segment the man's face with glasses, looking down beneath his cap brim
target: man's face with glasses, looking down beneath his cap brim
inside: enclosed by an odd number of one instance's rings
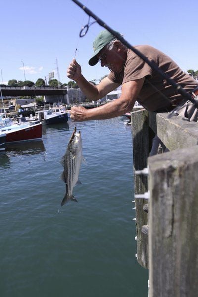
[[[102,67],[108,67],[112,72],[121,72],[125,59],[123,58],[122,49],[113,45],[112,49],[105,46],[97,55]]]

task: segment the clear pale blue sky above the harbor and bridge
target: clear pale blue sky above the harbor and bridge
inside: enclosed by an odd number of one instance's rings
[[[149,44],[168,54],[184,70],[198,70],[198,0],[81,0],[132,45]],[[93,24],[79,32],[88,16],[72,0],[9,0],[0,5],[0,83],[10,79],[36,82],[55,70],[67,83],[74,57],[88,80],[108,74],[106,67],[89,66],[93,40],[103,30]],[[91,19],[93,21],[93,19]],[[55,78],[58,79],[57,74]]]

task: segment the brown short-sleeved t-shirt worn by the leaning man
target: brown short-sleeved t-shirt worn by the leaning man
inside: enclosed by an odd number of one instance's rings
[[[154,61],[163,72],[187,92],[198,85],[189,74],[183,72],[170,57],[158,49],[148,45],[136,46],[135,48],[150,61]],[[127,51],[127,59],[123,70],[120,73],[110,72],[108,75],[111,81],[120,84],[143,77],[145,77],[145,81],[137,101],[147,110],[165,110],[173,104],[179,105],[182,102],[182,95],[178,93],[176,88],[130,49]]]

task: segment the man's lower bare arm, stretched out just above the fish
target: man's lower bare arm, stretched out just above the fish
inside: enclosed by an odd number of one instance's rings
[[[122,85],[122,95],[103,106],[85,109],[72,107],[70,117],[76,121],[102,120],[124,115],[133,109],[136,98],[142,89],[145,78],[130,81]]]

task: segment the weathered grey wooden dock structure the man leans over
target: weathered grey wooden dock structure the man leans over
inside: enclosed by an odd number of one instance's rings
[[[196,297],[198,123],[167,115],[140,110],[131,116],[137,260],[149,269],[149,297]],[[169,152],[149,157],[153,132]],[[141,232],[146,224],[148,236]]]

